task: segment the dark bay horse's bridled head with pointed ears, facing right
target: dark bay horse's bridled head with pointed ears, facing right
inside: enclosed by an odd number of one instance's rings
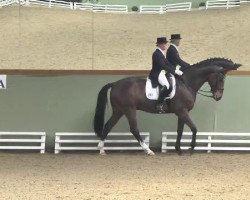
[[[208,84],[216,101],[219,101],[224,92],[225,77],[227,72],[237,70],[241,64],[233,63],[231,60],[221,59],[214,62],[215,72],[208,76]]]

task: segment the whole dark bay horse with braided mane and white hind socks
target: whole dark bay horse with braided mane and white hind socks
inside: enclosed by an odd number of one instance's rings
[[[179,154],[181,153],[180,141],[184,124],[193,133],[190,150],[192,151],[196,146],[197,128],[189,116],[189,111],[194,106],[199,89],[205,82],[208,82],[211,88],[211,96],[216,101],[220,100],[223,96],[226,73],[231,70],[237,70],[240,66],[241,64],[233,63],[231,60],[224,58],[211,58],[192,65],[184,71],[182,78],[176,78],[176,94],[173,99],[168,100],[165,113],[174,113],[178,117],[178,135],[175,149]],[[104,140],[108,133],[119,119],[125,115],[128,119],[131,133],[147,154],[154,155],[154,152],[144,143],[137,127],[136,110],[157,113],[156,101],[148,100],[146,97],[145,84],[146,78],[129,77],[114,83],[108,83],[100,90],[94,116],[94,131],[100,138],[98,144],[100,154],[105,154]],[[104,125],[107,93],[110,88],[110,102],[113,112]]]

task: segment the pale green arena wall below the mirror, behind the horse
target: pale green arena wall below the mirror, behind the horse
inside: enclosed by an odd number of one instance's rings
[[[0,91],[1,131],[45,131],[53,150],[55,132],[93,132],[98,91],[127,75],[9,75]],[[198,96],[191,116],[199,131],[249,132],[250,76],[230,75],[220,102]],[[107,116],[111,107],[108,107]],[[175,115],[138,113],[141,131],[151,133],[152,147],[160,148],[161,132],[175,131]],[[188,129],[187,129],[188,130]],[[123,118],[114,131],[129,131]]]

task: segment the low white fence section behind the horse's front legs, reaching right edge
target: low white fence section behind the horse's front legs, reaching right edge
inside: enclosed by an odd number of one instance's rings
[[[162,152],[175,149],[176,132],[162,133]],[[188,136],[188,137],[187,137]],[[192,133],[183,133],[181,149],[190,148]],[[195,150],[211,151],[250,151],[250,133],[197,133]]]

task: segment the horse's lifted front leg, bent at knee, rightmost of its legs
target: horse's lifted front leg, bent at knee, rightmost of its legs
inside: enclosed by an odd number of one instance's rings
[[[193,135],[192,135],[192,141],[191,141],[191,148],[190,150],[193,151],[195,146],[196,146],[196,133],[197,133],[197,128],[191,118],[189,117],[188,111],[184,110],[180,113],[177,114],[178,117],[191,129]]]

